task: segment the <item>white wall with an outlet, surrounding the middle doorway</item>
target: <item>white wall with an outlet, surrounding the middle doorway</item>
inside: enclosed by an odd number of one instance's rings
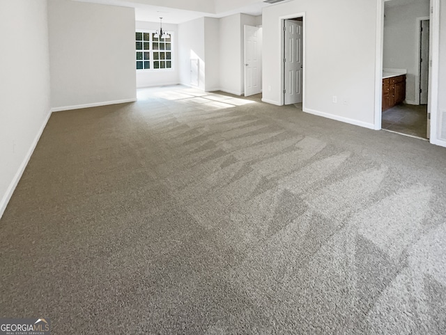
[[[264,8],[263,100],[282,103],[280,17],[305,12],[304,110],[374,127],[376,6],[369,0],[295,0]]]

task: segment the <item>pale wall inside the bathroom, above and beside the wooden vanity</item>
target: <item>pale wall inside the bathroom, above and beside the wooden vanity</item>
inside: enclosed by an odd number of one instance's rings
[[[383,68],[407,70],[406,100],[415,104],[418,76],[417,17],[429,17],[429,0],[418,0],[399,6],[385,2]],[[418,99],[419,100],[419,99]],[[419,101],[418,101],[419,103]]]

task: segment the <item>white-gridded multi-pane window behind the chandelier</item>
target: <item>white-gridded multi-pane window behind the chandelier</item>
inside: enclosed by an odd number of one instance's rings
[[[136,34],[137,70],[171,69],[172,37],[155,37],[155,31],[137,31]]]

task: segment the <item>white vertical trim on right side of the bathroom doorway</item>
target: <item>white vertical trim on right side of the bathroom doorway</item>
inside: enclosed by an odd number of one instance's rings
[[[440,139],[440,109],[438,109],[438,72],[440,52],[440,1],[431,0],[431,21],[430,21],[430,52],[431,68],[429,69],[429,98],[427,110],[431,113],[431,136],[430,142],[438,146],[445,146],[445,141]]]

